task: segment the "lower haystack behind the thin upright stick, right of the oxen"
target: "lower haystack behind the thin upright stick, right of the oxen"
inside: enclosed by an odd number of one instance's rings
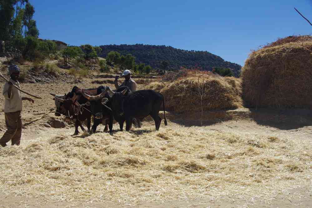
[[[173,82],[152,82],[147,88],[161,92],[168,110],[179,113],[201,111],[201,97],[198,93],[204,83],[203,109],[216,110],[242,107],[241,80],[234,77],[220,77],[212,73],[188,73]]]

